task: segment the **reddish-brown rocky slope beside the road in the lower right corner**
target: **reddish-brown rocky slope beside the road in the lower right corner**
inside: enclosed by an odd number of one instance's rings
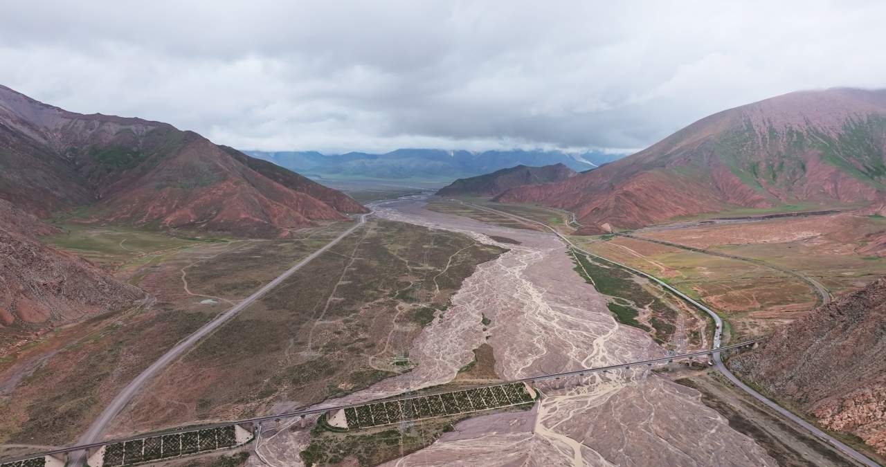
[[[886,455],[886,278],[781,328],[729,365],[832,430]]]

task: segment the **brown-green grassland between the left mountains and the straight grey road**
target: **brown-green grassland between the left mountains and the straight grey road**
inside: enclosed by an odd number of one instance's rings
[[[59,248],[102,258],[105,269],[153,301],[57,328],[4,355],[0,443],[74,441],[113,394],[175,342],[349,225],[325,224],[287,240],[205,241],[107,228],[50,238]],[[249,285],[228,285],[237,279]]]

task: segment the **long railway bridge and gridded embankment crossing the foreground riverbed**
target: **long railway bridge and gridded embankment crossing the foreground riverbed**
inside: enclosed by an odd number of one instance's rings
[[[656,365],[667,365],[677,361],[699,360],[705,364],[713,364],[716,353],[751,348],[761,340],[749,340],[718,349],[666,356],[653,360],[563,371],[487,385],[471,385],[457,390],[410,392],[381,401],[365,401],[334,407],[323,407],[321,404],[312,409],[294,410],[270,416],[255,416],[217,424],[175,428],[123,440],[101,441],[13,458],[5,460],[0,464],[0,467],[62,467],[67,463],[68,455],[82,451],[89,453],[89,465],[93,467],[116,467],[183,455],[204,454],[215,450],[236,448],[250,442],[253,440],[254,428],[261,423],[279,423],[284,419],[294,417],[300,417],[304,423],[306,416],[317,414],[323,414],[324,423],[332,429],[353,430],[404,421],[504,409],[532,403],[538,399],[540,393],[532,385],[540,383],[584,384],[582,378],[595,373],[631,369],[649,370]]]

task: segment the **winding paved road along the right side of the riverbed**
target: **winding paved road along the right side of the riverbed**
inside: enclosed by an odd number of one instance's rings
[[[492,209],[492,208],[488,208],[488,207],[484,207],[484,206],[477,206],[477,205],[474,205],[474,204],[471,204],[471,203],[463,203],[462,201],[458,201],[458,202],[460,202],[460,203],[462,203],[462,204],[469,204],[469,205],[472,206],[472,207],[477,207],[477,208],[479,208],[479,209],[483,209],[483,210],[486,210],[486,211],[491,212],[491,213],[494,213],[494,214],[506,215],[506,216],[509,216],[509,217],[512,217],[512,218],[515,218],[515,219],[518,219],[518,220],[522,220],[522,221],[525,221],[525,222],[533,222],[533,223],[535,223],[535,224],[538,224],[538,225],[540,225],[540,226],[543,226],[543,227],[547,228],[548,230],[554,232],[554,233],[556,234],[556,236],[557,236],[557,237],[560,237],[560,239],[563,240],[563,242],[565,242],[567,245],[570,245],[572,248],[575,248],[576,250],[579,250],[579,252],[587,253],[587,254],[589,254],[589,255],[591,255],[591,256],[594,256],[595,258],[601,258],[602,260],[609,261],[609,262],[614,263],[614,264],[618,264],[619,266],[621,266],[621,267],[623,267],[623,268],[630,269],[630,270],[632,270],[633,272],[636,272],[637,274],[640,274],[641,276],[645,276],[645,277],[647,277],[647,278],[649,278],[649,279],[651,279],[651,280],[657,282],[657,284],[661,284],[662,286],[664,286],[664,288],[666,288],[666,289],[669,290],[670,292],[676,293],[678,296],[680,296],[680,298],[682,298],[682,299],[684,299],[684,300],[687,300],[689,303],[692,303],[693,305],[695,305],[695,306],[698,307],[699,309],[703,310],[703,311],[704,311],[705,313],[707,313],[708,315],[711,315],[711,318],[714,320],[714,323],[716,323],[716,325],[717,325],[717,327],[716,327],[716,331],[715,331],[715,333],[714,333],[714,345],[713,345],[713,348],[714,348],[714,349],[719,349],[719,348],[720,348],[720,333],[721,333],[722,330],[723,330],[723,322],[722,322],[722,320],[720,320],[719,315],[717,315],[716,313],[714,313],[714,312],[711,310],[711,308],[705,307],[705,306],[703,306],[701,303],[698,303],[696,300],[692,300],[692,299],[688,298],[686,295],[684,295],[682,292],[678,291],[677,289],[674,289],[672,286],[670,286],[670,285],[668,285],[668,284],[664,284],[664,282],[658,280],[657,277],[655,277],[655,276],[650,276],[649,274],[646,274],[645,272],[642,272],[641,270],[633,269],[633,268],[631,268],[631,267],[629,267],[629,266],[626,266],[626,265],[624,265],[624,264],[619,264],[619,263],[617,263],[617,262],[615,262],[615,261],[612,261],[612,260],[609,260],[609,259],[607,259],[607,258],[602,258],[602,257],[600,257],[600,256],[595,255],[594,253],[589,253],[589,252],[587,252],[587,251],[585,251],[585,250],[579,248],[579,247],[576,246],[575,244],[573,244],[573,243],[570,241],[569,238],[563,237],[563,235],[560,235],[560,232],[557,232],[556,230],[554,230],[553,228],[551,228],[551,227],[548,226],[547,224],[544,224],[544,223],[541,223],[541,222],[532,221],[532,219],[526,219],[525,217],[518,216],[518,215],[515,215],[515,214],[505,213],[505,212],[503,212],[503,211],[499,211],[499,210],[497,210],[497,209]],[[641,238],[641,239],[645,239],[645,238]],[[827,289],[825,289],[825,290],[827,291]],[[825,300],[825,303],[827,303],[828,300],[830,300],[830,293],[828,292],[828,293],[824,293],[824,294],[822,294],[822,300]],[[794,415],[794,414],[793,414],[792,412],[790,412],[788,409],[784,409],[784,408],[782,408],[780,405],[776,404],[775,402],[770,401],[769,399],[766,399],[766,396],[764,396],[764,395],[761,394],[761,393],[758,393],[758,392],[755,391],[753,388],[751,388],[749,385],[745,385],[744,383],[742,383],[742,380],[739,379],[738,377],[736,377],[736,376],[732,373],[732,371],[730,371],[729,369],[727,369],[726,365],[723,364],[723,360],[720,358],[720,353],[719,353],[719,351],[718,351],[718,352],[714,352],[714,354],[713,354],[713,358],[714,358],[714,363],[715,363],[716,366],[717,366],[717,370],[719,370],[721,373],[723,373],[723,375],[725,375],[725,376],[729,379],[729,381],[732,381],[732,383],[733,383],[734,385],[738,386],[740,389],[742,389],[742,391],[744,391],[745,393],[749,393],[750,396],[753,397],[754,399],[757,399],[758,401],[763,402],[764,404],[766,404],[767,407],[769,407],[770,409],[773,409],[773,410],[775,410],[776,412],[778,412],[779,414],[781,414],[781,416],[784,416],[785,418],[790,419],[790,420],[793,421],[794,423],[796,423],[796,424],[798,424],[798,425],[804,427],[804,428],[805,428],[806,430],[808,430],[809,432],[812,432],[812,434],[815,435],[816,437],[818,437],[820,440],[823,440],[824,442],[826,442],[826,443],[828,443],[828,444],[834,446],[836,449],[838,449],[838,450],[840,450],[841,452],[843,452],[843,454],[845,454],[845,455],[849,455],[852,459],[855,459],[855,460],[858,461],[859,463],[861,463],[861,464],[863,464],[863,465],[867,465],[867,466],[869,466],[869,467],[878,467],[878,466],[880,465],[879,463],[875,463],[874,461],[868,459],[866,455],[863,455],[863,454],[859,453],[859,451],[856,451],[855,449],[850,448],[849,446],[846,446],[846,445],[843,444],[843,442],[841,442],[840,440],[836,440],[833,436],[829,435],[828,433],[826,433],[826,432],[822,432],[820,429],[818,429],[818,428],[816,428],[814,425],[812,425],[812,424],[806,422],[804,419],[800,418],[799,416]]]

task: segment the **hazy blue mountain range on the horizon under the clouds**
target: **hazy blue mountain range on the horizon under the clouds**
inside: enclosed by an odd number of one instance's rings
[[[244,151],[259,159],[295,170],[317,180],[379,179],[451,182],[456,178],[483,175],[502,168],[563,164],[584,172],[623,154],[559,151],[445,151],[439,149],[398,149],[384,154],[348,152],[324,155],[320,152]]]

